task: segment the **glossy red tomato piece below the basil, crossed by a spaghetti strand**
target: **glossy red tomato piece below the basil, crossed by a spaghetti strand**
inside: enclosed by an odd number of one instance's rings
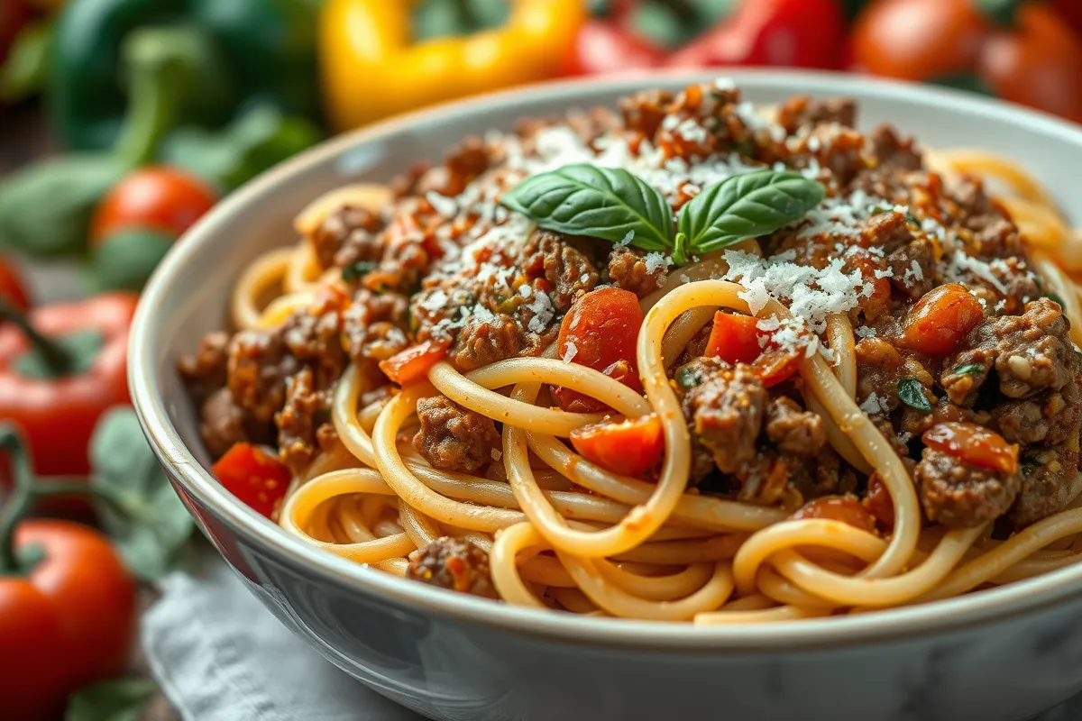
[[[559,324],[557,351],[560,358],[601,371],[620,383],[641,390],[635,344],[643,325],[638,296],[619,288],[586,293],[571,306]],[[556,402],[565,411],[596,413],[607,405],[570,388],[553,388]]]

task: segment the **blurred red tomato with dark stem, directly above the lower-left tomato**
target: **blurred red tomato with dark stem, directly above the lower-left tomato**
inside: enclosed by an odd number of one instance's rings
[[[22,427],[38,476],[85,476],[106,409],[128,404],[128,331],[138,297],[109,293],[35,308],[0,301],[0,418]]]

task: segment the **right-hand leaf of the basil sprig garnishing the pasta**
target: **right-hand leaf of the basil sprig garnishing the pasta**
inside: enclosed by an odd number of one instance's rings
[[[826,188],[792,171],[756,171],[709,186],[679,214],[678,230],[692,253],[707,253],[766,236],[804,217]]]

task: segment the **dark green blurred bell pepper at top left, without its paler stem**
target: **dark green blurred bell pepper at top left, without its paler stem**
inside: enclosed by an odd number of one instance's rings
[[[216,128],[253,105],[318,121],[312,0],[76,0],[57,21],[48,89],[52,124],[76,150],[113,148],[128,115],[121,48],[169,31],[201,82],[174,98],[174,124]]]

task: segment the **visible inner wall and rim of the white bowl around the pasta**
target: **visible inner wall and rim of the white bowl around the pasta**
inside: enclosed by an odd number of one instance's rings
[[[720,643],[725,639],[764,642],[771,630],[749,628],[691,629],[678,625],[635,622],[588,625],[560,618],[567,614],[497,609],[474,599],[433,593],[421,584],[410,584],[367,571],[342,559],[304,546],[273,528],[253,511],[235,503],[204,470],[210,458],[199,440],[196,414],[174,370],[176,357],[196,347],[208,331],[223,325],[230,289],[241,268],[260,253],[295,241],[293,216],[319,193],[351,182],[383,182],[421,160],[438,161],[450,146],[471,134],[489,129],[510,130],[523,117],[551,116],[568,108],[612,106],[617,98],[642,88],[681,88],[692,80],[716,74],[634,76],[606,81],[555,83],[481,97],[423,111],[371,129],[342,136],[311,150],[265,174],[234,193],[203,218],[168,255],[151,279],[132,336],[131,385],[144,427],[160,457],[176,469],[186,490],[243,533],[259,536],[283,552],[303,556],[321,573],[346,583],[378,586],[404,602],[425,603],[437,612],[464,613],[501,623],[528,618],[553,632],[575,630],[610,637],[647,633],[652,641]],[[1082,168],[1082,129],[975,96],[916,85],[886,83],[850,76],[740,71],[727,74],[743,90],[747,99],[775,103],[793,94],[848,95],[860,104],[860,125],[889,122],[915,135],[928,147],[979,147],[1012,158],[1041,177],[1073,219],[1082,208],[1082,184],[1076,182]],[[786,624],[787,645],[805,627],[812,640],[815,630],[829,624],[835,639],[871,631],[905,632],[914,628],[972,622],[1021,605],[1047,603],[1082,590],[1082,570],[1067,569],[1030,582],[918,609],[867,614],[863,617]],[[417,588],[412,588],[417,586]],[[438,606],[438,609],[436,609]],[[525,614],[525,615],[524,615]],[[777,625],[775,625],[777,626]],[[694,632],[692,632],[694,631]],[[704,632],[707,631],[707,632]],[[645,638],[645,637],[644,637]]]

